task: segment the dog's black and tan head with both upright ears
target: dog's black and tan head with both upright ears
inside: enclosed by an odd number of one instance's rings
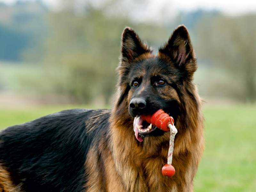
[[[138,117],[163,109],[176,122],[184,102],[182,92],[193,81],[196,68],[196,58],[185,26],[174,30],[158,55],[152,54],[152,50],[131,28],[125,28],[121,61],[117,68],[119,95],[116,111],[122,115],[122,111],[117,109],[122,108],[124,116],[128,115],[125,113],[128,110],[130,116]],[[164,134],[156,127],[147,131],[148,125],[147,122],[142,123],[140,137]]]

